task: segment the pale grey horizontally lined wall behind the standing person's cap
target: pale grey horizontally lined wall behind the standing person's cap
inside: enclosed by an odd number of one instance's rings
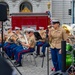
[[[72,0],[51,0],[51,13],[52,18],[57,18],[61,23],[72,23]],[[75,9],[75,1],[74,1]],[[75,10],[74,10],[74,22],[75,22]]]

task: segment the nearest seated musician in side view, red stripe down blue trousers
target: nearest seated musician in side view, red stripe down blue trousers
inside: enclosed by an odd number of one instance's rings
[[[21,64],[21,59],[22,59],[22,54],[28,53],[28,52],[34,52],[34,47],[35,47],[35,37],[34,37],[34,30],[33,29],[28,29],[27,30],[28,35],[29,35],[29,40],[28,40],[28,44],[26,44],[25,42],[21,42],[21,44],[27,48],[23,48],[22,46],[18,46],[15,50],[14,50],[14,56],[15,56],[15,60],[16,62],[14,63],[17,67],[22,66]]]

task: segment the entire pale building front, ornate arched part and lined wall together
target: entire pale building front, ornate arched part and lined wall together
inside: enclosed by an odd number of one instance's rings
[[[50,9],[48,9],[48,2],[50,2]],[[7,4],[8,14],[19,12],[44,13],[49,10],[51,18],[59,19],[61,23],[65,24],[72,23],[72,0],[0,0],[0,3]]]

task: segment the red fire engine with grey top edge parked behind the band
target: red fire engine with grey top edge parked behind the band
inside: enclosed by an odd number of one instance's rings
[[[11,22],[13,29],[15,26],[21,29],[32,27],[39,29],[44,27],[45,29],[50,24],[50,18],[48,13],[13,13],[11,14]]]

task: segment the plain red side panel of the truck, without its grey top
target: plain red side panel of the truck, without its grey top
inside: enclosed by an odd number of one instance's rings
[[[12,27],[13,29],[15,26],[22,28],[22,25],[36,25],[36,29],[39,27],[47,28],[48,23],[48,16],[11,16]]]

